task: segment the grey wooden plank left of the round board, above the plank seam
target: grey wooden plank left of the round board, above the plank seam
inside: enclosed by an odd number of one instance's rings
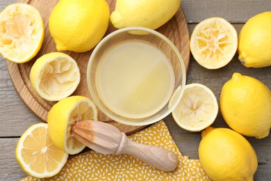
[[[29,111],[17,95],[8,75],[6,61],[0,58],[0,137],[21,136],[40,120]]]

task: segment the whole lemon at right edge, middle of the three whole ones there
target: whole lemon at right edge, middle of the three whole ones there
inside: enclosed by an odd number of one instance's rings
[[[234,73],[222,87],[220,109],[226,123],[245,136],[262,139],[271,127],[271,91],[253,77]]]

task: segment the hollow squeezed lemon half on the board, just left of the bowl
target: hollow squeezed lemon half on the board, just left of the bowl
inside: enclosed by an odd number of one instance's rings
[[[44,100],[58,101],[71,95],[80,82],[79,67],[67,54],[52,52],[38,58],[30,72],[31,85]]]

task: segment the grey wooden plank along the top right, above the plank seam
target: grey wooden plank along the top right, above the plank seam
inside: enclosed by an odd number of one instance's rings
[[[271,10],[270,0],[182,0],[181,7],[189,23],[197,23],[208,17],[224,17],[229,22],[244,23],[265,11]]]

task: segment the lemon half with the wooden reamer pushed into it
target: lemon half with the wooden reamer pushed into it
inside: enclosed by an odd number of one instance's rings
[[[70,134],[80,120],[98,120],[97,108],[87,97],[74,95],[54,104],[47,116],[49,135],[58,148],[70,155],[81,152],[85,145]]]

